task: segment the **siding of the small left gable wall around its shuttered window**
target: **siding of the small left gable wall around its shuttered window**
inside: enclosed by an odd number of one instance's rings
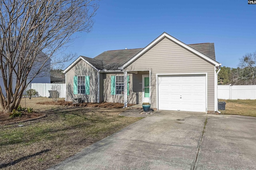
[[[90,95],[74,95],[74,76],[90,76]],[[85,102],[97,102],[98,72],[83,60],[80,60],[66,73],[66,101],[82,98]]]

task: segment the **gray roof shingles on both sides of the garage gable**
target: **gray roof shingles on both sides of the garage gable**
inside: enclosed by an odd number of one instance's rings
[[[215,61],[214,43],[198,43],[189,44],[188,46],[203,53]],[[94,65],[97,69],[103,70],[118,70],[118,67],[129,61],[134,55],[140,52],[143,48],[137,49],[121,49],[105,51],[94,58],[84,57],[86,61]]]

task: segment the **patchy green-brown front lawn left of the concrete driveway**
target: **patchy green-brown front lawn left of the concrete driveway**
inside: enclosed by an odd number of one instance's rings
[[[42,101],[32,98],[30,102],[33,100],[34,103],[35,100]],[[26,102],[26,105],[32,105],[29,100]],[[49,168],[142,119],[118,116],[124,109],[39,104],[30,107],[36,111],[48,109],[44,111],[47,117],[20,123],[23,127],[0,126],[0,168]]]

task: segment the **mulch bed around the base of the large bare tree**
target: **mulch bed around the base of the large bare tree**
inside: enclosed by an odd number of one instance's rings
[[[43,113],[23,113],[21,117],[14,117],[11,118],[9,116],[9,113],[0,113],[0,125],[6,125],[12,122],[18,122],[18,121],[26,121],[28,119],[35,119],[38,117],[42,117],[45,114]]]

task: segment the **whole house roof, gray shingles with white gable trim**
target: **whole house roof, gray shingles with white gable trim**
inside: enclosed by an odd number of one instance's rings
[[[180,42],[176,38],[170,36],[167,33],[161,34],[156,40],[151,42],[145,48],[136,48],[136,49],[121,49],[121,50],[112,50],[104,51],[100,55],[97,55],[94,58],[80,56],[76,61],[74,61],[70,66],[68,66],[63,73],[66,73],[71,67],[73,67],[80,59],[86,61],[96,70],[120,70],[120,68],[125,68],[127,65],[132,63],[135,59],[140,57],[150,48],[152,48],[156,43],[158,43],[163,38],[168,38],[175,43],[178,43],[180,46],[185,49],[199,55],[206,61],[219,66],[221,65],[215,60],[215,50],[214,43],[198,43],[198,44],[188,44]]]

